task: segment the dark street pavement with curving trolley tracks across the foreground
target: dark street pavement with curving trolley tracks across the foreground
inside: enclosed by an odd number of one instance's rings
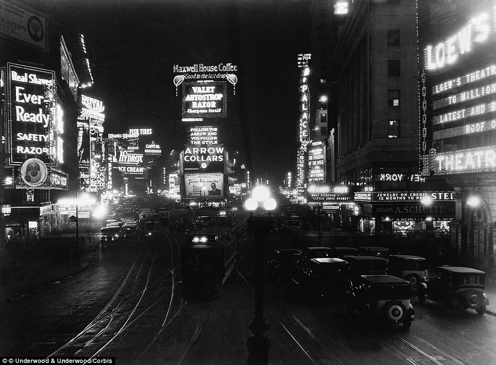
[[[115,356],[118,364],[246,363],[254,317],[253,240],[239,232],[240,255],[224,293],[199,299],[182,294],[178,247],[184,237],[166,237],[156,245],[86,252],[83,270],[2,300],[1,355]],[[314,239],[273,234],[267,259],[273,248]],[[1,294],[7,291],[3,285]],[[315,298],[294,282],[267,280],[269,363],[496,362],[496,317],[412,301],[416,319],[409,331],[388,323],[372,327],[358,313],[347,315],[337,296]]]

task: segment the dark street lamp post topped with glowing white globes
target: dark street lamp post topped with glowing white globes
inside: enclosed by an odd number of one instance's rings
[[[263,336],[269,325],[263,318],[263,272],[265,262],[265,238],[272,228],[270,211],[276,202],[269,197],[269,190],[258,186],[252,191],[252,197],[244,206],[250,211],[247,224],[255,238],[255,318],[249,328],[253,333],[247,339],[248,364],[267,364],[269,358],[270,339]]]

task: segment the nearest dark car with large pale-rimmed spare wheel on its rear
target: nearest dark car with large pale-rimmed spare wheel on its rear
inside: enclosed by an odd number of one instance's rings
[[[410,328],[415,311],[410,303],[410,282],[390,275],[362,275],[347,288],[346,311],[355,311],[372,323],[387,320]]]

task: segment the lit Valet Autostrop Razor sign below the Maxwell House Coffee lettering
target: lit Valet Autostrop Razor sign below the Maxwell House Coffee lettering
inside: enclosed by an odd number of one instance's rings
[[[183,118],[225,117],[225,81],[196,81],[183,83]]]

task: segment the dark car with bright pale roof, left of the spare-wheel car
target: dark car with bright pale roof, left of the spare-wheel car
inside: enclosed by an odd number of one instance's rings
[[[300,272],[300,284],[311,293],[325,298],[344,294],[348,276],[348,263],[337,258],[311,259]]]

